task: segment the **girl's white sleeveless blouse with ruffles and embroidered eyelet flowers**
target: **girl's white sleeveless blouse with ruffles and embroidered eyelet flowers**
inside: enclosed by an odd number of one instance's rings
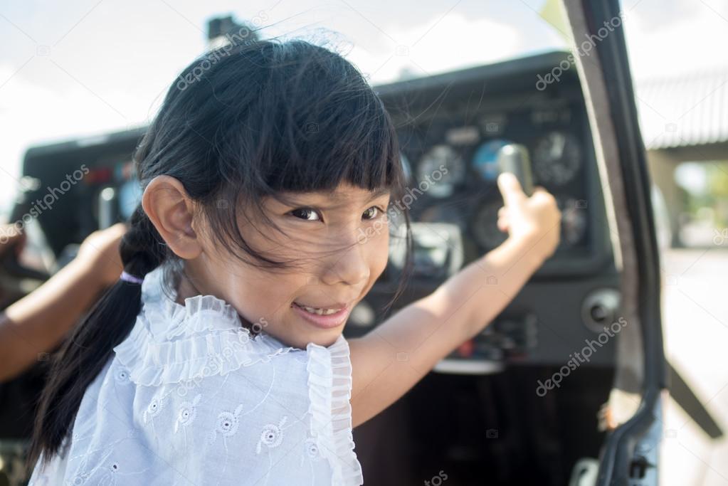
[[[344,336],[304,350],[253,335],[213,295],[176,303],[163,271],[29,486],[363,484]]]

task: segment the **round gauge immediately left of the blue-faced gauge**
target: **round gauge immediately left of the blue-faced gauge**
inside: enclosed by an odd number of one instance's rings
[[[417,167],[417,179],[420,189],[422,183],[429,183],[427,193],[434,197],[447,197],[453,194],[454,188],[465,178],[465,163],[462,157],[447,145],[436,145],[430,148]]]

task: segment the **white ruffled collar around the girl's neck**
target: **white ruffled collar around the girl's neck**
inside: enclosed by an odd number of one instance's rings
[[[141,311],[130,335],[114,347],[135,383],[152,386],[225,374],[303,351],[264,330],[250,332],[235,308],[214,295],[195,295],[184,305],[175,302],[176,291],[165,281],[167,268],[159,266],[144,276]]]

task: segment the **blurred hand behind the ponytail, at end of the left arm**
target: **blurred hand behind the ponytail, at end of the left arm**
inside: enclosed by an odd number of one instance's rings
[[[106,229],[94,231],[84,239],[76,255],[98,277],[102,287],[113,285],[122,274],[124,266],[119,254],[119,243],[127,232],[125,223],[116,223]]]

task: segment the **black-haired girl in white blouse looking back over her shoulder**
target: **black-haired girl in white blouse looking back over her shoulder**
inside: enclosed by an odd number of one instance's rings
[[[189,65],[135,153],[124,272],[41,396],[31,485],[361,485],[352,428],[499,314],[561,218],[502,176],[507,241],[347,341],[387,265],[399,154],[328,49],[252,41]]]

